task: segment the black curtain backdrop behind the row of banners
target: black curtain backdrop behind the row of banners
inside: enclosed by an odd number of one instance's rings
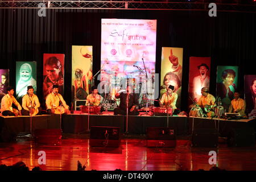
[[[38,96],[42,100],[43,53],[65,54],[64,99],[71,102],[72,45],[93,46],[93,73],[100,69],[101,18],[157,19],[156,73],[162,47],[183,47],[181,109],[187,110],[189,56],[210,56],[210,93],[216,92],[217,65],[238,65],[238,88],[243,75],[255,74],[256,14],[208,11],[0,9],[1,69],[10,69],[15,85],[15,61],[37,62]],[[160,77],[159,77],[160,83]],[[160,84],[159,84],[160,86]]]

